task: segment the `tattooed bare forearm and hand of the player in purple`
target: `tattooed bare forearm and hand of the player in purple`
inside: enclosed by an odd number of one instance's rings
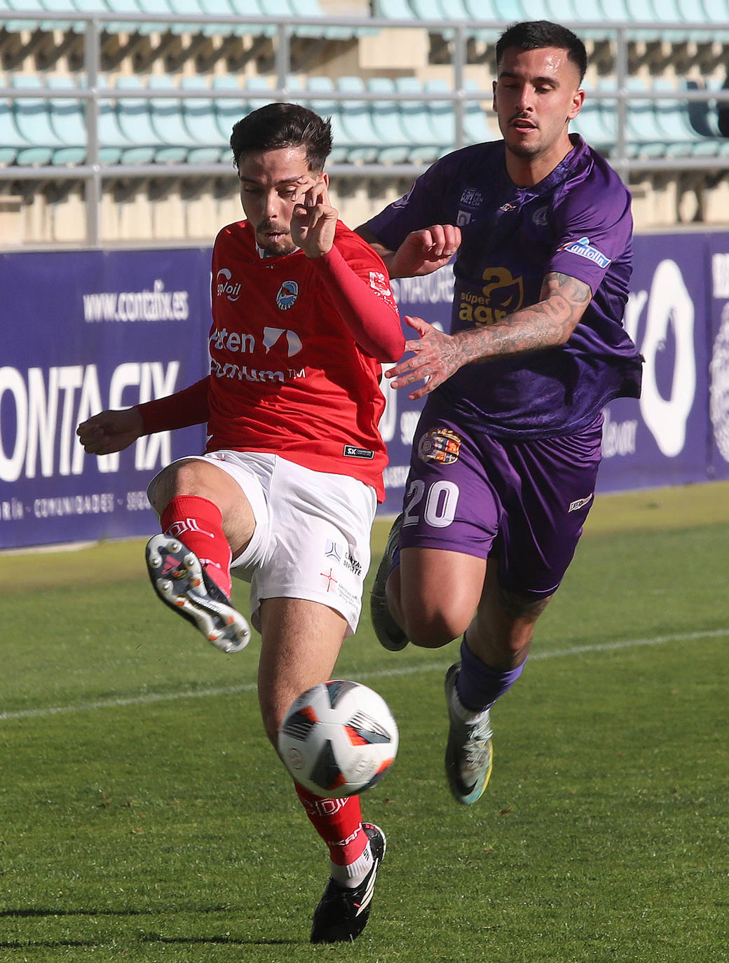
[[[412,351],[412,356],[391,368],[385,377],[392,378],[394,388],[424,380],[422,387],[408,395],[416,401],[472,361],[556,348],[569,339],[591,299],[592,292],[584,281],[553,272],[544,278],[541,299],[536,304],[514,311],[493,325],[452,335],[422,318],[405,317],[419,337],[405,342],[405,351]]]

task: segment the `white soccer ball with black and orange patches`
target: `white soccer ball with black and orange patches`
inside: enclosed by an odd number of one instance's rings
[[[332,680],[295,700],[278,730],[278,752],[301,786],[337,798],[374,786],[395,759],[399,739],[378,692]]]

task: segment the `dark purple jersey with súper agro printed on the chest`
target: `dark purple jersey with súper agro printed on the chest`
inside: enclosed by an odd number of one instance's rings
[[[503,141],[436,161],[368,222],[393,250],[431,224],[457,224],[451,332],[539,300],[544,275],[584,281],[592,300],[565,345],[460,368],[430,396],[464,428],[530,438],[585,428],[612,398],[638,398],[641,358],[622,325],[632,270],[630,194],[579,135],[534,187],[508,176]]]

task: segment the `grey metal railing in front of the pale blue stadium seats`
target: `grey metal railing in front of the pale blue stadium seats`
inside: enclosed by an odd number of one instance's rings
[[[454,105],[455,113],[455,139],[453,149],[468,143],[465,135],[465,112],[466,104],[469,101],[482,101],[490,99],[491,91],[486,88],[475,91],[465,87],[465,67],[468,63],[468,41],[476,33],[483,31],[493,31],[494,38],[498,32],[506,29],[508,21],[501,20],[430,20],[430,19],[388,19],[382,17],[369,16],[347,16],[347,17],[288,17],[286,19],[263,17],[263,16],[202,16],[193,14],[180,15],[161,15],[152,13],[58,13],[46,11],[43,13],[26,13],[15,10],[12,13],[3,12],[0,16],[0,27],[7,22],[14,23],[36,23],[43,22],[55,23],[85,23],[84,30],[84,68],[83,74],[86,84],[83,87],[68,87],[63,90],[48,87],[34,87],[23,89],[22,87],[0,88],[0,97],[10,100],[32,97],[34,99],[69,99],[78,98],[85,102],[86,119],[86,161],[77,165],[43,165],[43,166],[19,166],[9,165],[0,167],[0,181],[58,181],[74,180],[83,181],[85,184],[85,209],[86,209],[86,233],[87,244],[90,247],[100,246],[100,202],[102,187],[105,181],[117,180],[122,178],[179,178],[179,177],[200,177],[200,176],[233,176],[233,171],[228,163],[217,164],[109,164],[102,165],[99,160],[99,138],[98,138],[98,117],[99,102],[109,101],[110,99],[140,98],[150,100],[153,98],[173,98],[175,100],[184,99],[244,99],[247,92],[240,90],[180,90],[170,91],[160,90],[128,90],[115,91],[114,88],[103,87],[100,79],[103,76],[101,70],[101,36],[104,26],[107,23],[115,24],[159,24],[162,30],[169,28],[173,24],[186,24],[191,27],[209,26],[212,23],[224,26],[245,25],[251,28],[251,35],[255,35],[256,27],[275,28],[272,35],[274,42],[274,66],[273,72],[276,78],[275,89],[270,91],[272,100],[292,99],[292,100],[318,100],[326,99],[332,101],[381,101],[388,99],[392,101],[450,101]],[[644,36],[648,33],[655,33],[657,37],[675,33],[678,40],[689,36],[691,33],[706,33],[710,29],[705,22],[685,21],[685,22],[664,22],[660,24],[655,21],[589,21],[579,22],[563,21],[563,25],[574,30],[578,36],[595,32],[603,32],[606,36],[615,39],[615,60],[614,60],[614,90],[589,91],[590,99],[610,100],[616,102],[616,126],[614,150],[611,153],[610,161],[624,180],[627,180],[632,173],[640,171],[683,171],[683,170],[724,170],[729,169],[729,154],[717,156],[676,156],[676,157],[657,157],[639,158],[629,156],[628,146],[628,104],[631,99],[645,101],[646,99],[667,99],[681,100],[687,103],[692,101],[706,102],[726,102],[729,104],[729,90],[675,90],[675,91],[631,91],[626,89],[626,81],[629,77],[628,68],[628,43],[631,35]],[[356,36],[358,30],[372,33],[373,30],[423,30],[432,34],[446,34],[449,38],[451,49],[451,65],[453,67],[453,87],[451,91],[442,93],[434,91],[393,91],[386,97],[381,92],[356,91],[355,93],[342,91],[326,91],[322,94],[319,91],[302,91],[300,88],[290,88],[287,86],[289,77],[292,75],[291,39],[297,35],[301,27],[321,29],[323,36],[328,27],[347,27],[351,30],[352,36]],[[729,28],[729,24],[727,25]],[[484,71],[489,69],[483,66]],[[252,91],[251,91],[252,93]],[[256,99],[261,99],[261,91],[252,94]],[[700,135],[696,135],[697,139]],[[427,168],[424,164],[330,164],[327,171],[332,177],[387,177],[387,178],[414,178]]]

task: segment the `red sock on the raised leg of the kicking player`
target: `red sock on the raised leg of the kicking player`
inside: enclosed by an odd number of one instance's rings
[[[179,538],[200,560],[203,568],[230,598],[230,545],[222,534],[221,509],[197,495],[177,495],[160,518],[162,531]]]

